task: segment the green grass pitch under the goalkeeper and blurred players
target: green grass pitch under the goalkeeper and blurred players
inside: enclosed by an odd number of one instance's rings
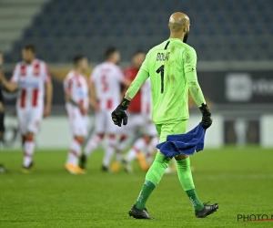
[[[39,151],[35,171],[20,172],[22,154],[0,152],[8,172],[0,175],[0,227],[273,227],[273,222],[237,222],[238,213],[273,214],[273,150],[206,150],[192,157],[199,198],[218,202],[218,212],[194,217],[177,174],[165,175],[147,203],[154,221],[130,218],[145,173],[102,173],[101,153],[88,173],[64,171],[66,153]]]

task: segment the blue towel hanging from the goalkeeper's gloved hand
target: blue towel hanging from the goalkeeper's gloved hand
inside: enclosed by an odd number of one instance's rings
[[[166,141],[157,144],[157,149],[167,158],[175,157],[180,153],[192,155],[195,151],[204,149],[205,134],[206,130],[199,123],[186,134],[168,135]]]

